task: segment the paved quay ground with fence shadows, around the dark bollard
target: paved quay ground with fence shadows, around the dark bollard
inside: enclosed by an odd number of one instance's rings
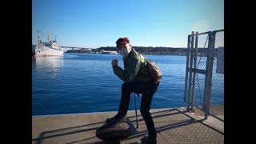
[[[224,143],[224,122],[209,116],[186,112],[185,109],[150,110],[158,131],[158,143]],[[95,136],[106,118],[116,112],[99,114],[70,114],[32,118],[32,143],[114,143],[103,142]],[[138,128],[134,111],[129,111],[126,122],[134,134],[116,143],[145,143],[145,122],[138,110]],[[218,115],[224,120],[224,114]]]

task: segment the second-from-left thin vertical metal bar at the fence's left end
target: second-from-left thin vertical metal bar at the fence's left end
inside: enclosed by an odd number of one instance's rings
[[[191,106],[191,84],[192,84],[192,66],[193,66],[193,48],[194,48],[194,31],[192,31],[192,38],[191,38],[191,48],[190,48],[190,74],[189,74],[189,90],[188,90],[188,98],[189,98],[189,105],[188,105],[188,110],[190,110],[190,106]]]

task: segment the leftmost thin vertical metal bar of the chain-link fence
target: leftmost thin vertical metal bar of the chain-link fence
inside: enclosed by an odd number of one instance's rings
[[[190,35],[187,37],[187,49],[186,49],[186,78],[185,78],[185,90],[184,90],[184,102],[189,103],[187,96],[187,80],[188,80],[188,67],[190,63]]]

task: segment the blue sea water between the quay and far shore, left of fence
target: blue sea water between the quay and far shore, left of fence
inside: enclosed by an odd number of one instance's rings
[[[162,70],[151,109],[186,106],[183,102],[186,56],[144,55]],[[65,54],[32,58],[32,115],[117,111],[122,80],[112,70],[118,54]],[[137,106],[141,99],[136,98]],[[134,110],[130,98],[129,110]]]

